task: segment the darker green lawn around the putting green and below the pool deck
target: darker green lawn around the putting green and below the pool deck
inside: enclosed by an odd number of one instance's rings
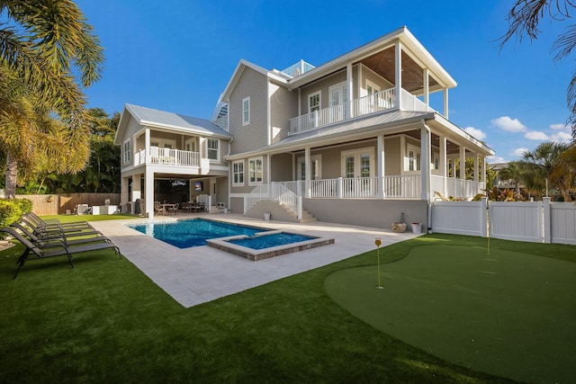
[[[383,248],[381,260],[438,243],[485,239],[419,237]],[[491,247],[576,260],[572,246]],[[75,269],[63,258],[34,261],[13,281],[21,252],[0,253],[4,382],[509,382],[402,343],[330,299],[325,279],[373,265],[375,252],[193,308],[113,253],[78,255]]]

